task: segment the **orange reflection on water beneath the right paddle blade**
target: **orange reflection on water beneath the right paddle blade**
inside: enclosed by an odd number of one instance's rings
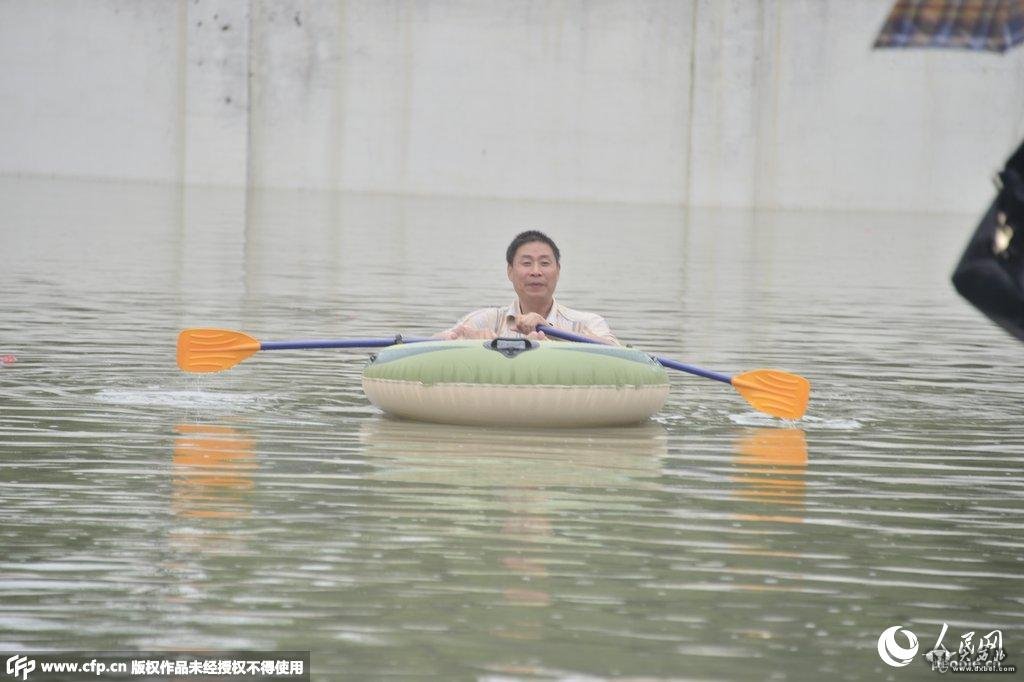
[[[804,521],[807,438],[802,429],[753,429],[735,442],[734,494],[746,501],[785,506],[799,514],[743,514],[745,520]]]

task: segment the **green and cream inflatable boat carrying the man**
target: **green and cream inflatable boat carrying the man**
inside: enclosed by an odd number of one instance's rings
[[[651,356],[620,346],[426,341],[373,356],[362,390],[385,413],[424,422],[617,426],[660,410],[669,377]]]

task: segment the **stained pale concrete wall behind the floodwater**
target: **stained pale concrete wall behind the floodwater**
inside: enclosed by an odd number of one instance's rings
[[[1024,47],[892,0],[0,0],[0,174],[976,212]]]

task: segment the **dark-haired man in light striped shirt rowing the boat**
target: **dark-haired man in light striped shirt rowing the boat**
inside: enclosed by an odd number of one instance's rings
[[[601,315],[566,307],[555,300],[561,253],[544,232],[530,229],[516,236],[505,251],[508,278],[516,299],[506,307],[480,308],[437,336],[442,339],[526,337],[545,339],[538,325],[620,345]]]

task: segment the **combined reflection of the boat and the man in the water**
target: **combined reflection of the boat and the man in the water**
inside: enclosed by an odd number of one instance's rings
[[[548,548],[562,543],[558,524],[569,512],[635,507],[636,492],[657,489],[668,454],[665,428],[518,430],[369,420],[361,440],[374,478],[438,486],[439,503],[493,505],[504,515],[499,552],[505,617],[492,636],[544,637],[552,605]],[[443,488],[440,486],[444,486]],[[452,489],[452,487],[463,488]],[[598,489],[601,495],[593,495]],[[481,499],[478,493],[485,495]],[[494,566],[492,566],[494,568]]]

